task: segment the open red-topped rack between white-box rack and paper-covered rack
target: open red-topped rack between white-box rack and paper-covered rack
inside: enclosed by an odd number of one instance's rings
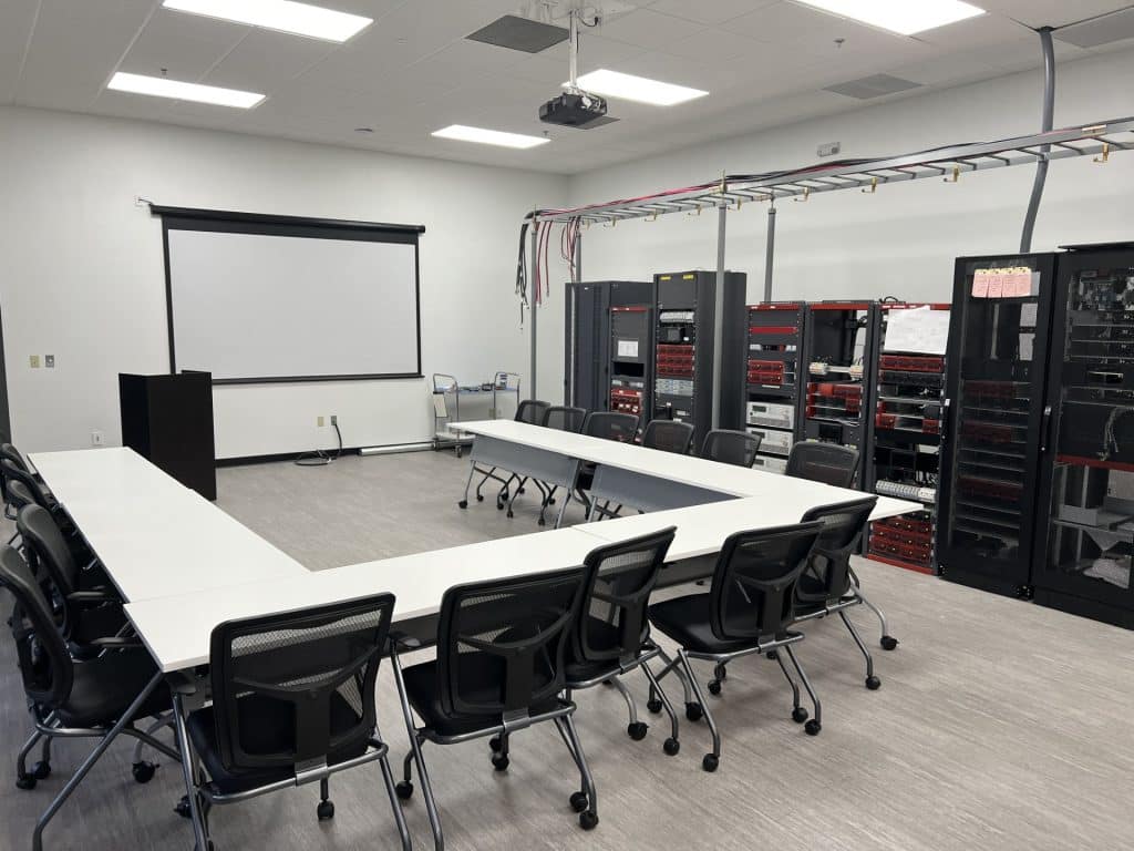
[[[803,439],[853,446],[866,453],[874,426],[869,364],[877,357],[880,315],[878,302],[807,305]],[[864,479],[860,470],[858,487]]]

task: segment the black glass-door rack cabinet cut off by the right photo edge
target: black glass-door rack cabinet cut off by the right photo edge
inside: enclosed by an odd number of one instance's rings
[[[1134,248],[1060,254],[1035,600],[1134,627]]]

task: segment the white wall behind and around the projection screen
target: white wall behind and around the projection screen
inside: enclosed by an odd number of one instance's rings
[[[528,379],[514,295],[524,210],[566,200],[566,178],[20,108],[0,108],[0,309],[15,443],[120,441],[119,372],[169,368],[160,219],[134,204],[424,225],[426,380],[226,386],[218,457],[426,438],[433,371]],[[335,305],[321,309],[335,310]],[[271,321],[271,317],[264,317]],[[254,329],[249,329],[254,332]],[[28,356],[54,354],[56,369]],[[561,359],[560,359],[561,360]],[[558,380],[559,366],[541,373]],[[545,384],[544,384],[545,386]]]

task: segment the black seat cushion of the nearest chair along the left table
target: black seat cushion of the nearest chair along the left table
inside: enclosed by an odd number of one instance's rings
[[[76,662],[70,694],[59,708],[59,718],[70,727],[113,724],[156,673],[153,659],[142,648],[113,650]],[[170,707],[169,689],[161,683],[134,717],[168,713]]]

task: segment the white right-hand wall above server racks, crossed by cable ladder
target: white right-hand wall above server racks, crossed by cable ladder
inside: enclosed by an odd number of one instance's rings
[[[1039,45],[1036,44],[1036,50]],[[1134,115],[1134,51],[1058,68],[1056,126]],[[631,197],[704,183],[729,172],[814,162],[816,145],[840,141],[840,157],[878,157],[1034,132],[1042,71],[1013,75],[679,151],[581,176],[572,203]],[[600,130],[601,132],[601,130]],[[845,191],[778,205],[773,298],[880,297],[950,301],[954,258],[1016,251],[1034,168]],[[1106,166],[1084,158],[1055,162],[1033,250],[1134,239],[1134,152]],[[728,216],[726,263],[748,272],[748,300],[763,295],[767,205]],[[717,216],[591,227],[583,277],[642,278],[659,271],[716,268]],[[549,355],[553,355],[549,351]]]

